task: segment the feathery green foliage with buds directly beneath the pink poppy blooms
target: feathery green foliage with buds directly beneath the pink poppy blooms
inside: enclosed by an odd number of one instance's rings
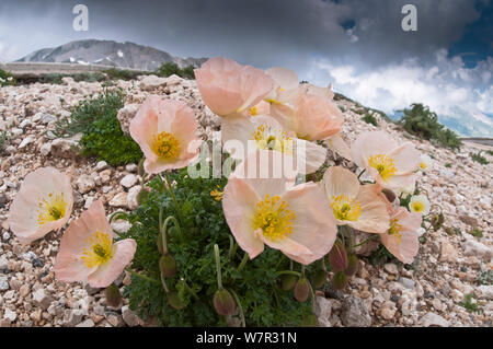
[[[159,325],[226,326],[225,317],[216,313],[213,304],[218,290],[214,254],[217,244],[222,286],[234,296],[238,314],[240,318],[243,314],[246,326],[299,326],[312,314],[312,296],[299,303],[293,290],[282,288],[279,272],[297,274],[290,271],[284,254],[265,246],[254,259],[243,259],[245,254],[234,243],[221,201],[210,194],[222,190],[225,177],[192,179],[184,168],[170,175],[168,183],[173,181],[176,201],[161,178],[154,177],[148,183],[150,193],[140,207],[126,217],[133,226],[121,237],[137,242],[131,265],[136,271],[124,291],[131,310],[144,319],[153,317]],[[169,293],[160,279],[161,254],[157,245],[160,210],[163,220],[173,216],[180,222],[180,230],[175,226],[168,230],[168,251],[176,261],[176,274],[164,279]],[[306,267],[307,277],[318,270],[316,265],[320,263]],[[294,270],[299,272],[300,266],[296,265]]]

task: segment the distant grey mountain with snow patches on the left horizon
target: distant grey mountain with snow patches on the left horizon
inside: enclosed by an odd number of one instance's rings
[[[139,70],[156,70],[163,62],[175,62],[180,68],[199,67],[206,58],[180,58],[149,46],[114,40],[85,39],[55,48],[38,49],[18,61],[104,65]]]

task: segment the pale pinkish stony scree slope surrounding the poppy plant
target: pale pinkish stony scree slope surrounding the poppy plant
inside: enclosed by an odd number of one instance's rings
[[[58,117],[68,114],[64,106],[102,91],[100,83],[76,83],[70,78],[64,81],[61,85],[0,89],[0,131],[11,135],[0,164],[0,327],[151,326],[129,311],[127,300],[114,309],[105,304],[101,290],[54,279],[60,233],[22,246],[9,231],[10,203],[25,175],[41,166],[54,166],[71,176],[72,219],[99,198],[103,198],[108,214],[137,206],[141,178],[136,164],[114,168],[79,158],[71,149],[76,139],[51,139],[46,132]],[[127,92],[126,107],[119,113],[124,127],[148,94],[160,94],[193,107],[204,138],[219,128],[218,117],[204,106],[194,81],[151,75],[117,84]],[[375,127],[354,112],[359,106],[345,100],[336,103],[345,110],[342,133],[348,142],[377,128],[401,142],[408,140],[395,125],[378,115],[379,125]],[[481,165],[469,156],[472,146],[454,153],[426,141],[411,141],[435,159],[433,168],[420,182],[432,203],[443,208],[444,225],[455,230],[427,233],[411,269],[395,264],[372,266],[363,258],[360,270],[344,293],[330,289],[318,292],[317,313],[322,326],[492,326],[493,286],[491,279],[481,284],[480,276],[492,270],[493,159],[486,155],[490,164]],[[128,229],[123,221],[113,226],[117,231]],[[473,226],[482,229],[483,237],[468,233]],[[125,274],[117,280],[119,287],[127,282]],[[471,293],[480,312],[468,312],[460,305]]]

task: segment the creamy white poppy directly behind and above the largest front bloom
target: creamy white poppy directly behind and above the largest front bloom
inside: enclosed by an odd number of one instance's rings
[[[225,149],[231,153],[231,158],[243,160],[246,154],[256,149],[278,151],[294,158],[299,173],[309,174],[316,172],[326,158],[325,148],[302,139],[296,138],[293,131],[284,127],[273,117],[259,115],[253,118],[230,117],[221,123],[221,137]],[[236,149],[239,141],[241,147]]]

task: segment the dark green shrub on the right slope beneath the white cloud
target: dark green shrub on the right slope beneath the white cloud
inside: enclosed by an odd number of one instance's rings
[[[436,113],[419,103],[412,104],[411,107],[411,109],[404,109],[404,116],[399,121],[409,133],[434,140],[446,148],[460,149],[462,143],[459,137],[438,123]]]

